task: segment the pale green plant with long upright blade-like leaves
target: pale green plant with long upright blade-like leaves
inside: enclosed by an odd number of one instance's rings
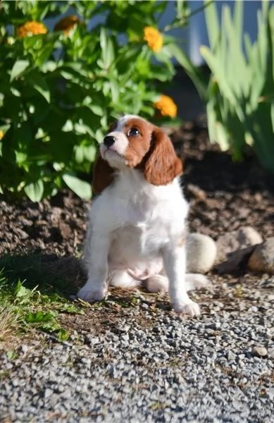
[[[216,4],[205,9],[210,47],[201,47],[211,78],[206,93],[212,142],[242,157],[251,145],[261,164],[274,172],[274,6],[261,2],[258,35],[252,44],[243,35],[243,5],[234,16],[223,6],[219,23]]]

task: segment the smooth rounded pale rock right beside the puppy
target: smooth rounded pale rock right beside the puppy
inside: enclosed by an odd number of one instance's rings
[[[189,233],[187,236],[187,272],[205,274],[216,259],[216,243],[208,235]]]

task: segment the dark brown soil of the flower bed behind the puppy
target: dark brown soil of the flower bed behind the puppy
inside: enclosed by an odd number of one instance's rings
[[[226,231],[248,225],[263,238],[273,236],[274,177],[263,171],[251,152],[242,162],[232,161],[230,154],[209,143],[203,116],[185,123],[170,137],[184,161],[184,190],[191,204],[190,231],[216,240]],[[15,203],[0,197],[0,255],[39,253],[44,266],[66,273],[73,286],[79,286],[85,280],[78,258],[87,228],[88,206],[88,202],[67,191],[39,204],[29,200]],[[242,276],[247,284],[259,280],[244,266],[230,275],[211,272],[213,281],[220,284],[239,283]],[[130,306],[130,295],[120,295]],[[163,300],[161,307],[168,307],[168,302]]]

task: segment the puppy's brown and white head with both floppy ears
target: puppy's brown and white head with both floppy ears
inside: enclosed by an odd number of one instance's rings
[[[140,118],[127,115],[111,125],[94,166],[93,190],[99,193],[116,171],[135,168],[153,185],[166,185],[182,173],[182,162],[163,131]]]

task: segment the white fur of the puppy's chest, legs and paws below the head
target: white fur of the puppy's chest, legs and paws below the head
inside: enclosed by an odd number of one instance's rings
[[[92,203],[84,250],[88,279],[78,298],[101,300],[108,284],[134,288],[145,281],[151,292],[168,290],[176,312],[199,314],[187,290],[207,280],[185,274],[187,212],[178,178],[156,186],[134,168],[120,168]]]

